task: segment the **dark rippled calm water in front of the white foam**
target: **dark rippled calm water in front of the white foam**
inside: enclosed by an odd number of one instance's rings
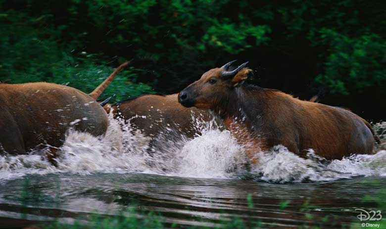
[[[386,178],[321,183],[266,183],[241,179],[198,179],[139,173],[28,175],[0,186],[0,220],[7,227],[36,221],[72,222],[85,214],[119,214],[133,207],[161,212],[165,223],[206,225],[237,216],[264,228],[326,228],[358,223],[357,208],[378,209]],[[253,207],[248,205],[250,195]],[[287,201],[288,205],[281,208]],[[329,218],[325,223],[323,219]],[[1,225],[0,227],[3,227]]]

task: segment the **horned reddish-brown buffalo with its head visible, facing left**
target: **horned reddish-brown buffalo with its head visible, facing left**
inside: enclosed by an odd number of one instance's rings
[[[361,117],[343,108],[244,84],[251,70],[244,63],[228,71],[233,62],[205,72],[178,99],[186,107],[218,112],[239,143],[246,144],[251,158],[258,149],[278,144],[303,157],[313,149],[326,159],[373,152],[374,138],[380,139]]]

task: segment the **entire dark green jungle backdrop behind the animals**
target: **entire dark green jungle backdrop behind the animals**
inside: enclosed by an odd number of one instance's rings
[[[135,58],[102,98],[179,92],[239,59],[251,83],[386,112],[386,1],[0,0],[0,81],[91,92]],[[101,98],[101,99],[102,99]]]

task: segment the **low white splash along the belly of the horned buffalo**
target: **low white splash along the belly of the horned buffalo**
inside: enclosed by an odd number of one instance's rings
[[[327,162],[313,151],[308,153],[308,158],[302,158],[284,146],[275,146],[262,153],[259,159],[253,174],[267,182],[321,182],[356,176],[386,176],[385,150],[374,155],[358,154]]]

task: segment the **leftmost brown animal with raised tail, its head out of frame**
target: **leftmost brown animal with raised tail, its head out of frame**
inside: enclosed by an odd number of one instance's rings
[[[51,159],[71,127],[103,135],[107,114],[96,99],[126,65],[128,62],[119,66],[90,94],[51,83],[0,84],[0,152],[25,154],[52,146]]]

